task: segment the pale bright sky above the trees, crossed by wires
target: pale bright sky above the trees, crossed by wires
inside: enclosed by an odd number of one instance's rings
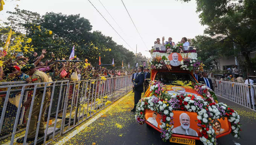
[[[145,42],[143,43],[121,0],[90,1],[131,47],[110,27],[88,0],[5,0],[4,10],[0,11],[0,20],[6,21],[8,17],[6,11],[14,11],[17,4],[19,9],[30,10],[41,15],[46,12],[80,14],[81,17],[90,21],[93,26],[92,31],[101,31],[105,36],[112,37],[117,44],[123,45],[134,53],[137,44],[137,53],[141,52],[146,57],[150,57],[148,50],[154,46],[157,38],[162,42],[163,36],[165,41],[168,37],[172,37],[172,41],[177,43],[182,37],[194,38],[203,34],[206,28],[199,22],[195,0],[189,3],[180,0],[123,0]],[[104,4],[118,25],[99,1]]]

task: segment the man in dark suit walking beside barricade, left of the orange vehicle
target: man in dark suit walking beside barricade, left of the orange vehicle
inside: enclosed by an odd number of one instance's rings
[[[134,107],[131,110],[131,112],[135,112],[136,110],[136,105],[139,102],[140,98],[141,98],[141,93],[143,91],[143,82],[145,79],[145,76],[143,74],[143,66],[139,66],[137,68],[138,70],[138,75],[135,78],[134,84],[133,84],[133,88],[134,88]]]

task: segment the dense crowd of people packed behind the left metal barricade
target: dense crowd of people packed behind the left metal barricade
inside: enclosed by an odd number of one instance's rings
[[[73,73],[78,74],[78,79],[96,78],[100,76],[122,76],[131,75],[133,70],[130,68],[125,69],[107,69],[103,66],[93,67],[88,60],[79,60],[78,57],[73,60],[66,60],[65,58],[55,58],[55,55],[51,52],[51,59],[44,59],[47,54],[46,49],[41,51],[38,55],[34,52],[31,56],[25,57],[23,52],[13,54],[8,59],[3,56],[3,51],[0,54],[0,81],[31,81],[31,75],[28,72],[24,72],[27,65],[34,65],[35,69],[45,72],[52,80],[69,79]],[[5,58],[5,59],[3,59]],[[43,61],[44,60],[44,61]]]

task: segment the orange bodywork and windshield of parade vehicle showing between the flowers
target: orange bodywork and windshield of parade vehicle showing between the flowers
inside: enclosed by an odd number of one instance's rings
[[[195,77],[193,76],[193,72],[189,72],[187,70],[180,70],[178,68],[174,68],[169,70],[161,70],[161,69],[153,69],[151,70],[151,81],[159,80],[163,84],[166,85],[166,91],[168,93],[188,93],[188,94],[194,94],[197,96],[200,96],[200,94],[197,93],[192,87],[189,86],[191,83],[197,82]],[[181,84],[179,82],[186,82],[185,84]],[[150,94],[150,88],[145,93],[145,97],[148,97]],[[172,134],[172,138],[170,139],[170,142],[176,142],[176,143],[183,143],[186,142],[193,143],[194,140],[200,140],[198,137],[198,132],[200,130],[200,127],[197,126],[197,113],[195,112],[189,112],[189,111],[173,111],[174,116],[174,130],[176,131]],[[189,126],[189,129],[191,129],[191,132],[187,132],[183,134],[184,132],[178,132],[181,126],[180,116],[181,114],[187,114],[189,116],[189,121],[187,121],[187,124]],[[145,123],[149,126],[153,127],[158,132],[161,132],[160,125],[162,114],[155,113],[154,111],[151,111],[149,109],[145,110]],[[219,138],[224,135],[228,135],[231,133],[231,124],[227,120],[227,118],[218,119],[214,122],[216,128],[215,134],[216,138]],[[193,133],[194,132],[194,133]],[[184,139],[185,142],[182,142]],[[175,140],[175,141],[174,141]],[[180,142],[179,142],[180,141]]]

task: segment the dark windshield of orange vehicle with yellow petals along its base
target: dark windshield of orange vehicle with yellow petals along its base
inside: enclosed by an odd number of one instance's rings
[[[189,73],[179,72],[158,72],[155,80],[166,85],[190,86],[195,83],[195,79]]]

